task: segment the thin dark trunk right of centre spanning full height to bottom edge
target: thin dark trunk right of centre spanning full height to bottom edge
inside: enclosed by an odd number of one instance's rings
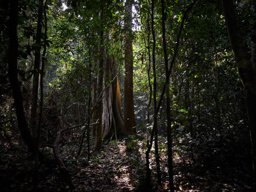
[[[166,46],[166,25],[165,25],[165,8],[164,0],[161,0],[162,4],[162,40],[163,40],[163,53],[164,53],[164,64],[166,67],[166,116],[167,116],[167,148],[168,148],[168,173],[169,173],[169,188],[171,192],[174,192],[173,185],[173,138],[172,138],[172,120],[170,117],[170,77],[168,76],[168,54]]]

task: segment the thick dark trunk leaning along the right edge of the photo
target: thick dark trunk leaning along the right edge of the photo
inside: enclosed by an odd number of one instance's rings
[[[223,0],[223,11],[225,22],[228,29],[229,40],[239,75],[245,90],[246,108],[249,119],[249,131],[252,147],[252,165],[254,171],[254,179],[256,179],[256,77],[253,64],[248,53],[246,42],[243,40],[242,32],[237,22],[235,7],[232,0]],[[255,44],[255,39],[252,39]],[[252,58],[255,57],[254,46],[252,47]],[[253,61],[254,62],[254,61]],[[255,182],[255,181],[254,181]]]

